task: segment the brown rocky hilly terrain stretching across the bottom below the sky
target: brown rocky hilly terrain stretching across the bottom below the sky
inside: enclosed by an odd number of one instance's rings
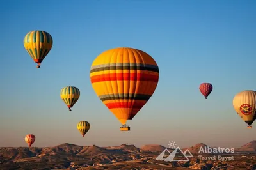
[[[170,149],[156,144],[136,148],[65,143],[51,148],[6,147],[0,148],[0,169],[256,169],[256,141],[236,148],[235,153],[198,153],[200,147],[208,146]],[[164,161],[175,158],[175,151],[182,161]]]

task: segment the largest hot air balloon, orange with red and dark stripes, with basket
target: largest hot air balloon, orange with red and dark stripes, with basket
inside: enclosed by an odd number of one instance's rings
[[[156,61],[138,49],[119,47],[102,52],[90,70],[92,87],[100,100],[129,131],[132,120],[153,95],[159,69]]]

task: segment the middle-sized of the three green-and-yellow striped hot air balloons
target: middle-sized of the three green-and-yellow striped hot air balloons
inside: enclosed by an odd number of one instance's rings
[[[80,97],[80,91],[74,86],[67,86],[61,89],[60,97],[67,105],[69,111],[71,111],[70,108],[72,108],[74,104],[76,104],[77,100]]]

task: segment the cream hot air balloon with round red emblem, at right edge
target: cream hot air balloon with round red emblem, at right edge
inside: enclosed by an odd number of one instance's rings
[[[246,90],[237,93],[233,99],[233,106],[237,114],[248,124],[247,128],[252,128],[252,123],[256,119],[256,91]]]

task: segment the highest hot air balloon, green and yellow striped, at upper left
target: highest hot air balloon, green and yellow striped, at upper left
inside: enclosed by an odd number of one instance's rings
[[[37,63],[36,68],[40,68],[40,64],[45,56],[52,49],[52,36],[45,31],[30,31],[24,38],[24,47],[28,54]]]

